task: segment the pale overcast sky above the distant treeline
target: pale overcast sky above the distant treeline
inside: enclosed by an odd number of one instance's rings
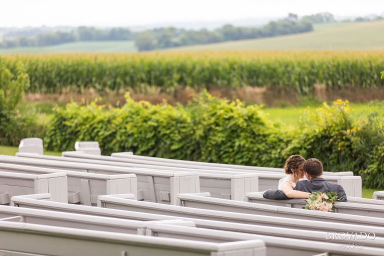
[[[328,11],[382,14],[383,0],[2,0],[0,27],[138,26],[281,17]]]

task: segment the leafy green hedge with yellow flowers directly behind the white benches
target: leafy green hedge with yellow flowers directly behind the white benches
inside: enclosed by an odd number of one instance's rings
[[[319,158],[329,171],[352,170],[363,185],[384,188],[384,131],[379,115],[353,123],[346,101],[305,111],[294,128],[268,120],[257,105],[200,94],[189,105],[135,102],[121,108],[70,103],[57,108],[44,138],[47,149],[73,150],[96,140],[103,154],[135,154],[282,167],[299,153]],[[381,113],[383,113],[382,111]]]

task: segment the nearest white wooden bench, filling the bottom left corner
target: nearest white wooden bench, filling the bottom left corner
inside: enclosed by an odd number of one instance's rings
[[[5,220],[0,221],[0,237],[4,255],[265,255],[261,240],[213,243]]]

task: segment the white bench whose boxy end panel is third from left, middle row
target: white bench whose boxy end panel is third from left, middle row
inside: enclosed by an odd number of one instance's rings
[[[133,173],[137,177],[137,200],[178,205],[177,193],[199,192],[197,172],[158,171],[70,161],[0,155],[0,162],[99,174]]]

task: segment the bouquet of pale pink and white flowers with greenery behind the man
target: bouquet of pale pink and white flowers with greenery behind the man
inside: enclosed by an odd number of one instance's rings
[[[311,192],[308,199],[305,199],[306,204],[302,208],[333,212],[333,203],[339,200],[336,192]]]

